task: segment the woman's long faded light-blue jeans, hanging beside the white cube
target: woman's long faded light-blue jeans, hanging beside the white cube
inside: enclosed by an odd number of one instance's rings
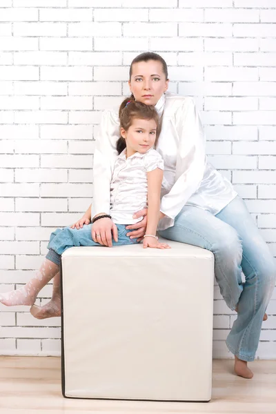
[[[239,305],[226,344],[239,359],[253,361],[264,313],[275,286],[276,268],[244,201],[235,197],[215,216],[201,208],[184,206],[175,226],[159,234],[213,252],[221,295],[230,309]]]

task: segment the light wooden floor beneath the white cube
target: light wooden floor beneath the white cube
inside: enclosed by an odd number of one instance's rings
[[[71,400],[61,395],[60,358],[0,357],[1,414],[276,414],[276,361],[255,361],[255,376],[233,375],[233,360],[213,362],[208,403]]]

